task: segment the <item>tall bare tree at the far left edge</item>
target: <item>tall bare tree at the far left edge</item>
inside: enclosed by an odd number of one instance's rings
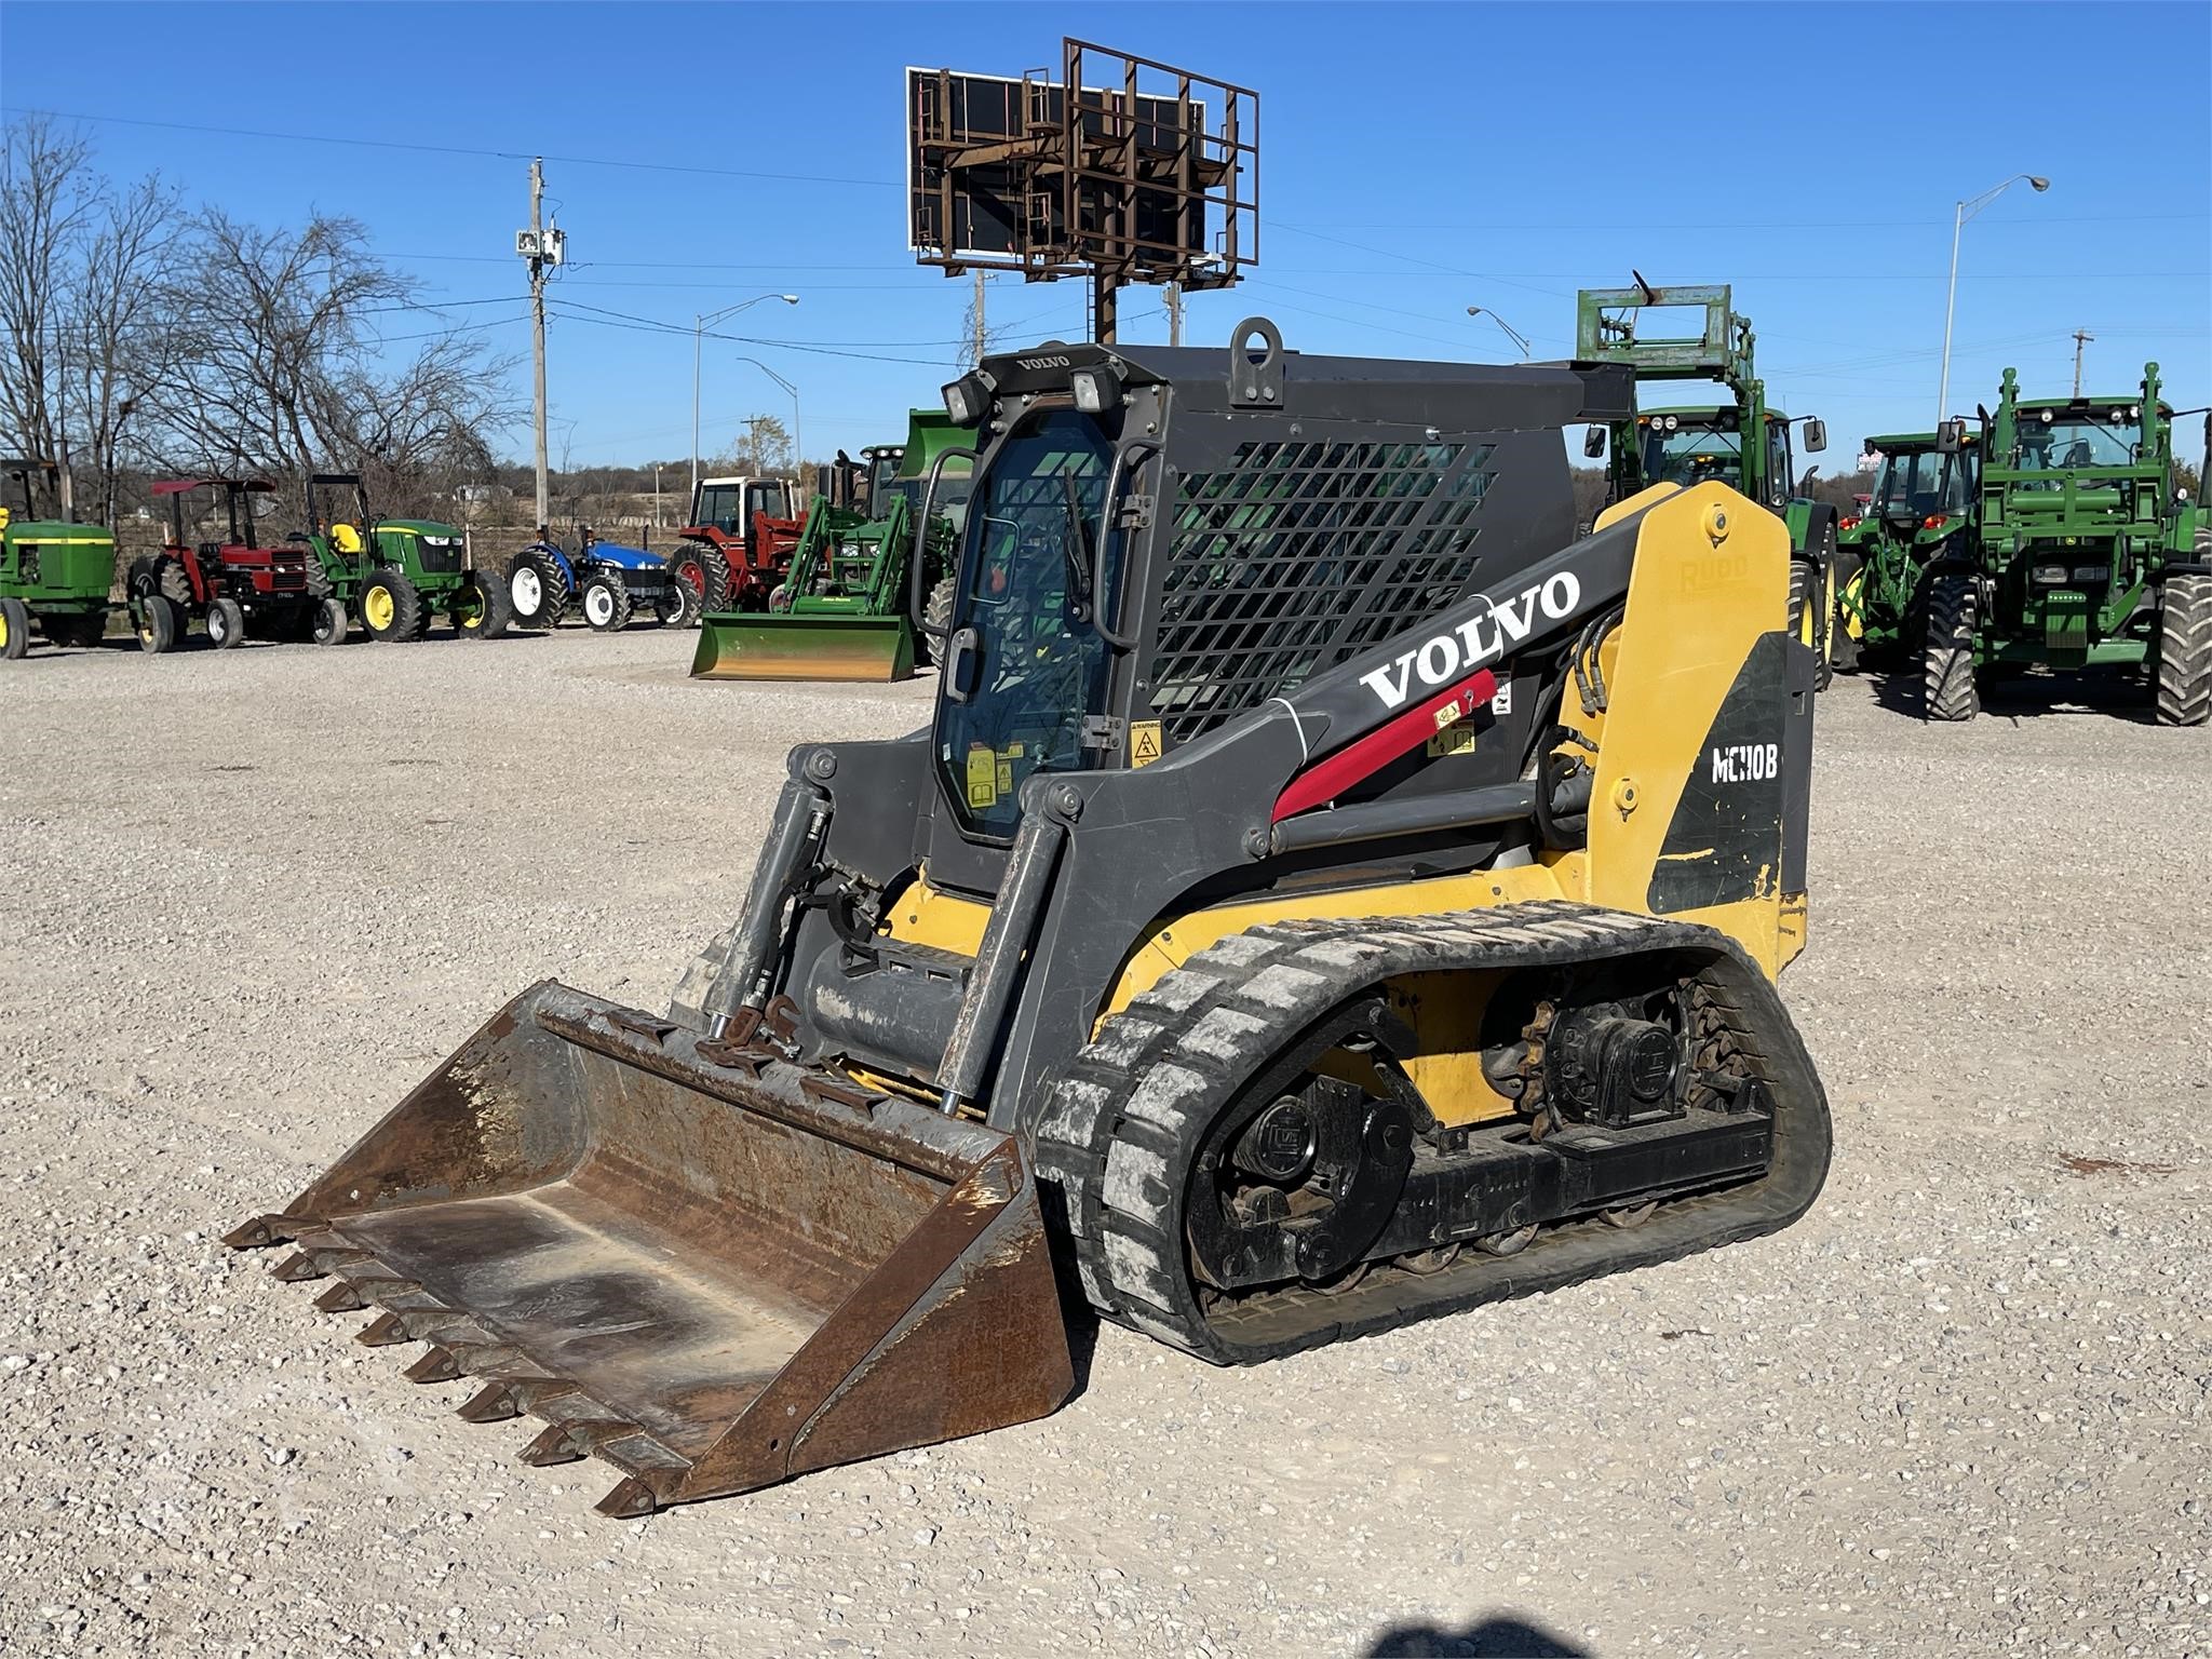
[[[62,283],[84,228],[91,146],[31,115],[0,133],[0,414],[24,451],[62,453]],[[46,511],[44,484],[35,487]],[[60,502],[51,502],[53,509]]]

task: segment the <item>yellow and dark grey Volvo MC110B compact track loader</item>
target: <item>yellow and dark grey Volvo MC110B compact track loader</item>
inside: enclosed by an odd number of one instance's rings
[[[1626,369],[1252,321],[947,411],[929,728],[792,752],[666,1013],[524,991],[234,1245],[639,1515],[1051,1411],[1062,1294],[1245,1363],[1805,1212],[1790,533],[1659,484],[1577,542]]]

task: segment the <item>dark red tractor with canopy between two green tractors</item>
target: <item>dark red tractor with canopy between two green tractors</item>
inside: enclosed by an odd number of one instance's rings
[[[195,489],[223,493],[230,515],[228,542],[192,542],[184,524],[184,498]],[[159,595],[175,606],[175,626],[139,630],[146,650],[173,650],[186,624],[199,617],[208,644],[228,650],[248,630],[261,639],[314,639],[319,646],[345,639],[345,608],[321,599],[307,584],[314,555],[299,544],[254,542],[254,495],[276,493],[263,478],[173,478],[153,487],[168,498],[168,544],[131,566],[131,595]]]

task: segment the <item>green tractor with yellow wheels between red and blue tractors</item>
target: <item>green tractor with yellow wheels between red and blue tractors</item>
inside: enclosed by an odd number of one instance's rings
[[[354,518],[323,511],[325,491],[352,491]],[[495,639],[513,622],[507,582],[476,571],[469,538],[451,524],[369,513],[369,491],[356,473],[316,473],[307,480],[310,529],[303,540],[316,560],[307,588],[336,599],[369,639],[420,639],[442,611],[462,639]],[[316,626],[316,644],[338,644],[343,630]]]

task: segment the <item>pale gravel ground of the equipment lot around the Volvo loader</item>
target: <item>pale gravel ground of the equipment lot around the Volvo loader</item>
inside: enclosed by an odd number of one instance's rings
[[[526,982],[659,1004],[785,745],[925,714],[686,653],[9,664],[0,1650],[2212,1655],[2212,732],[1867,681],[1794,1230],[1263,1369],[1108,1329],[1046,1422],[602,1522],[215,1239]]]

